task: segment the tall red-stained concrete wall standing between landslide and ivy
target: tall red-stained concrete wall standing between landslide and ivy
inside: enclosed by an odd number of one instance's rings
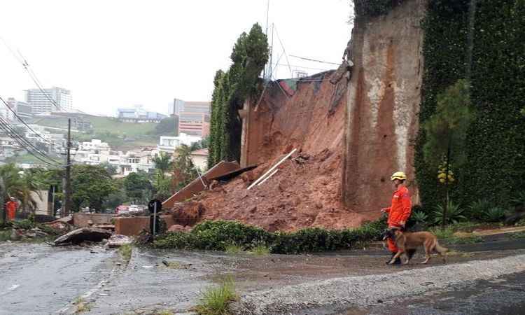
[[[356,212],[389,204],[390,175],[404,171],[413,202],[414,146],[423,75],[426,1],[407,0],[378,17],[358,17],[346,102],[343,200]],[[379,216],[379,214],[377,214]]]

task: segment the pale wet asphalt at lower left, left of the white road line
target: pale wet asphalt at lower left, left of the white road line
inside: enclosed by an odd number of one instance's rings
[[[116,265],[115,251],[0,243],[0,314],[54,314],[96,288]]]

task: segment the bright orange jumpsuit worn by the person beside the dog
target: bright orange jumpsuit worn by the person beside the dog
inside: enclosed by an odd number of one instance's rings
[[[405,186],[398,186],[398,190],[392,195],[392,205],[385,209],[388,214],[388,228],[402,228],[400,222],[407,222],[412,211],[412,201],[408,189]],[[387,240],[388,250],[392,253],[398,251],[392,239]]]

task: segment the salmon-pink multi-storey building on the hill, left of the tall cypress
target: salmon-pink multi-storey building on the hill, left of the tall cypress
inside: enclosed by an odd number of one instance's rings
[[[210,102],[186,102],[174,99],[169,114],[179,118],[178,134],[207,137],[209,134]]]

